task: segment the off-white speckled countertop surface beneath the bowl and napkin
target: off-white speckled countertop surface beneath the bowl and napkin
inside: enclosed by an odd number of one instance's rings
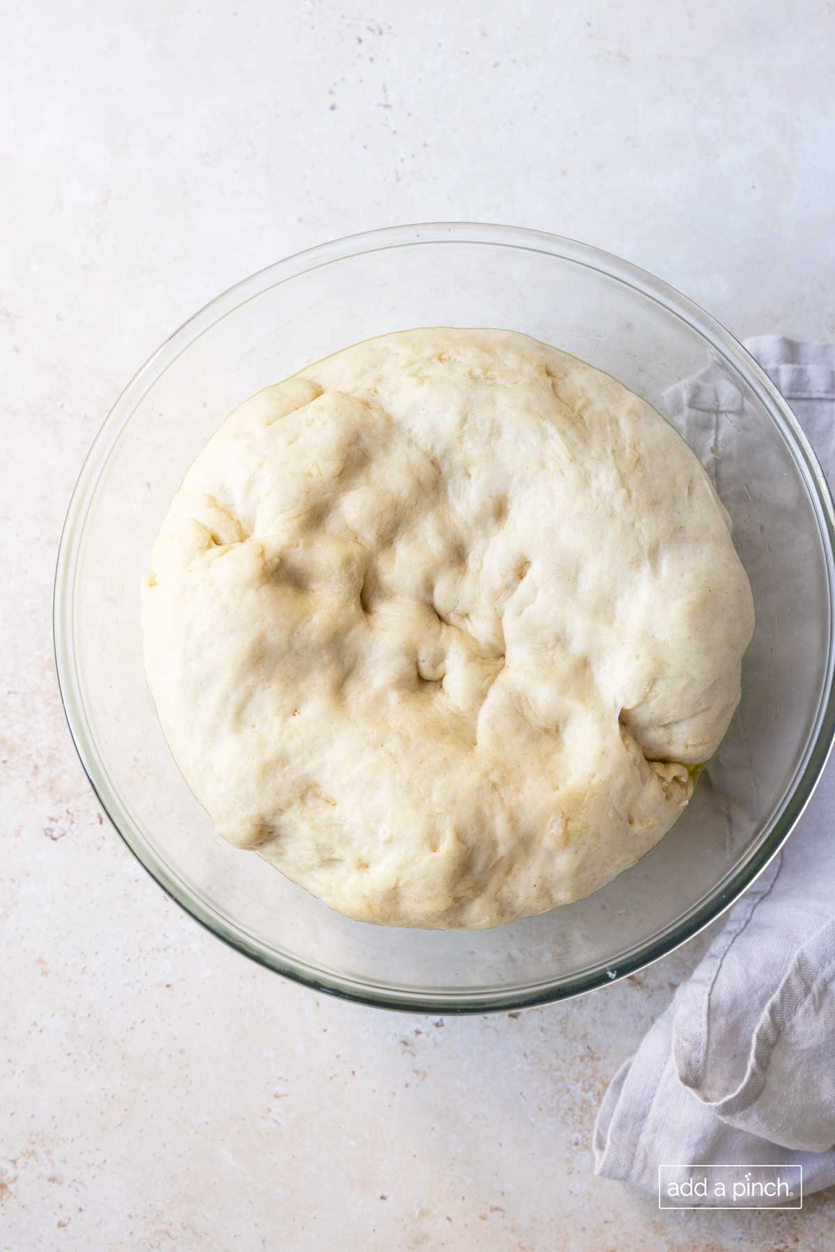
[[[521,1015],[282,982],[110,829],[50,635],[68,497],[116,394],[298,248],[513,222],[646,265],[740,336],[835,333],[831,4],[46,0],[4,28],[0,1248],[831,1247],[831,1192],[662,1213],[591,1173],[605,1085],[704,939]]]

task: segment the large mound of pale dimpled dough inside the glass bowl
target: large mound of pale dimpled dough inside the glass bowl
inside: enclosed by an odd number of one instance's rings
[[[143,623],[222,835],[348,916],[478,928],[587,895],[670,829],[754,610],[653,408],[526,336],[423,329],[227,419]]]

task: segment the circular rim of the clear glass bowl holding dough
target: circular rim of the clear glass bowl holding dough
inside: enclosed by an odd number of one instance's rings
[[[806,482],[810,500],[815,505],[829,580],[829,651],[825,659],[824,681],[814,731],[810,734],[805,752],[795,770],[794,782],[780,811],[772,819],[770,828],[761,834],[745,861],[730,871],[709,896],[697,901],[689,910],[684,921],[670,924],[652,939],[635,944],[618,958],[616,968],[597,964],[581,969],[567,978],[545,979],[508,989],[474,987],[466,990],[438,988],[436,992],[337,975],[295,958],[290,959],[268,952],[255,936],[248,935],[243,926],[228,924],[217,911],[203,904],[188,884],[156,856],[133,828],[133,823],[121,808],[119,796],[109,785],[106,770],[99,759],[94,737],[89,730],[89,719],[75,665],[75,568],[89,513],[86,506],[94,497],[110,453],[123,431],[161,373],[210,327],[242,304],[275,285],[351,257],[389,248],[443,243],[521,248],[526,252],[541,252],[548,257],[595,269],[607,278],[617,279],[625,285],[635,288],[643,297],[660,304],[667,313],[681,318],[692,329],[696,329],[721,357],[734,364],[760,403],[771,412],[772,417],[776,417],[781,434],[789,443]],[[242,279],[188,318],[163,341],[136,371],[116,398],[93,441],[73,490],[61,530],[53,593],[55,666],[70,736],[90,786],[111,825],[150,876],[212,934],[275,973],[313,990],[362,1004],[444,1015],[522,1009],[570,999],[597,987],[620,982],[687,943],[735,903],[742,891],[762,874],[785,844],[809,804],[832,749],[835,741],[834,611],[835,508],[826,478],[809,439],[787,403],[742,344],[689,297],[647,270],[612,253],[545,230],[471,222],[429,222],[383,227],[305,248]]]

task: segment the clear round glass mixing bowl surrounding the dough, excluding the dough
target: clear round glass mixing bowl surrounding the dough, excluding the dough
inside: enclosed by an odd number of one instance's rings
[[[588,899],[486,931],[398,930],[330,911],[213,830],[145,686],[139,580],[189,463],[260,387],[372,336],[426,326],[523,331],[646,397],[714,473],[757,608],[742,702],[692,803]],[[730,388],[721,423],[682,416],[680,382]],[[712,394],[712,393],[710,393]],[[710,407],[710,406],[709,406]],[[695,424],[694,424],[695,413]],[[309,987],[438,1013],[510,1009],[606,985],[670,952],[756,878],[831,745],[832,503],[820,467],[745,349],[684,295],[615,257],[533,230],[396,227],[300,253],[219,295],[145,364],[73,496],[55,650],[84,769],[128,846],[194,918]]]

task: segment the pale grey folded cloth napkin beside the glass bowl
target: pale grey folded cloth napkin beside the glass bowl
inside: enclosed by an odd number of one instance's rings
[[[762,336],[746,347],[834,481],[835,344]],[[711,367],[681,384],[682,429],[689,406],[702,429],[705,412],[722,428],[739,401]],[[801,1164],[805,1192],[835,1183],[834,814],[835,760],[784,850],[615,1075],[595,1127],[597,1174],[655,1192],[660,1164]]]

